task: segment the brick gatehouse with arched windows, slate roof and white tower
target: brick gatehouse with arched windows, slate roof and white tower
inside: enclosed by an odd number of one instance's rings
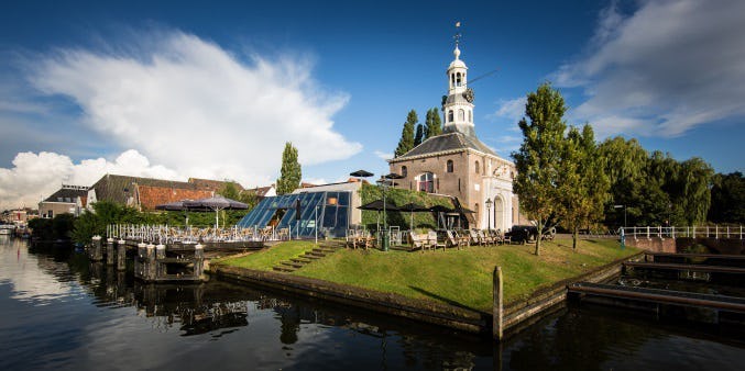
[[[473,90],[468,87],[468,67],[456,57],[447,70],[448,95],[443,97],[441,135],[427,138],[408,153],[388,160],[391,172],[403,176],[397,188],[458,198],[478,228],[512,227],[519,218],[517,196],[512,191],[515,165],[484,145],[473,124]],[[471,218],[472,217],[472,218]]]

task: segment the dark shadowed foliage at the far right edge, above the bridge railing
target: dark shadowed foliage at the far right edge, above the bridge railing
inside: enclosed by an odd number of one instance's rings
[[[743,173],[717,173],[711,189],[709,220],[714,223],[745,224],[745,178]]]

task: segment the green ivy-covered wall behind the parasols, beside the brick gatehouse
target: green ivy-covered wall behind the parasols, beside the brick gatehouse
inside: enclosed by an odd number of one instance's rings
[[[380,187],[372,184],[362,184],[360,188],[360,199],[362,204],[383,199],[383,192]],[[442,205],[452,207],[452,202],[449,198],[436,196],[426,192],[409,191],[405,189],[390,188],[385,192],[385,199],[391,200],[396,205],[403,206],[409,202],[420,204],[423,206]],[[408,213],[408,212],[386,212],[387,224],[398,226],[402,231],[409,228],[412,216],[414,217],[414,228],[437,228],[437,220],[432,213]],[[363,210],[362,224],[368,229],[375,229],[380,223],[383,224],[383,212]]]

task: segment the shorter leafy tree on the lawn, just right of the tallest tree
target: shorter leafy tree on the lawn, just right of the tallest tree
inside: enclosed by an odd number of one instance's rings
[[[559,195],[561,224],[572,232],[572,249],[577,250],[579,229],[603,217],[603,206],[611,183],[598,156],[594,132],[589,124],[580,134],[571,127],[567,134],[560,162]]]

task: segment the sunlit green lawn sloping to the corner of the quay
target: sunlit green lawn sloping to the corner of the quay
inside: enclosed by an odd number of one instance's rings
[[[227,262],[271,270],[278,261],[310,248],[308,243],[285,243]],[[534,250],[533,245],[474,246],[425,254],[342,249],[292,274],[489,312],[495,266],[502,267],[504,300],[510,303],[638,251],[631,247],[621,250],[615,240],[581,240],[578,252],[573,252],[570,239],[541,244],[540,256]]]

